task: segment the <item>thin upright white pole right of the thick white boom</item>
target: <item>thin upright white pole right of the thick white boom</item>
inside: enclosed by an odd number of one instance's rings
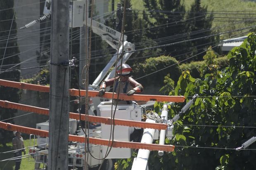
[[[164,104],[162,112],[161,112],[161,119],[164,119],[164,123],[167,123],[168,121],[168,105]],[[161,130],[160,131],[160,136],[159,136],[159,144],[164,144],[165,142],[165,137],[166,137],[166,130]],[[159,156],[164,155],[164,151],[158,151]]]

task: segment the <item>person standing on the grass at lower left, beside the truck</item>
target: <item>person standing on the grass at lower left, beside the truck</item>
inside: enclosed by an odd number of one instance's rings
[[[21,133],[20,132],[14,131],[13,133],[16,136],[12,139],[12,148],[14,150],[20,149],[19,151],[15,151],[14,152],[14,156],[15,157],[22,156],[22,151],[24,152],[24,154],[26,154],[25,149],[23,149],[23,148],[25,148],[24,147],[24,142],[23,142],[23,137],[21,137]],[[16,163],[15,163],[15,169],[14,170],[19,170],[20,165],[21,165],[21,158],[20,159],[16,159],[15,161],[16,161]]]

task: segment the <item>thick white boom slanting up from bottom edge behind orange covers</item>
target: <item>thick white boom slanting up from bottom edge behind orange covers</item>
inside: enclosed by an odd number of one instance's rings
[[[147,119],[146,122],[156,123],[156,121],[152,119]],[[152,144],[155,131],[155,129],[145,128],[140,143]],[[139,149],[137,157],[133,160],[132,170],[147,170],[149,154],[150,150]]]

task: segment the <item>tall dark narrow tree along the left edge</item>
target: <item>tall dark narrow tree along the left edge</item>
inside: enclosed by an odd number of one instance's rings
[[[0,64],[2,66],[0,72],[0,79],[7,79],[11,81],[19,82],[20,72],[13,70],[12,72],[2,72],[6,69],[5,65],[12,65],[20,63],[19,61],[19,48],[17,47],[17,25],[14,16],[13,0],[0,1],[0,37],[4,41],[0,43]],[[5,10],[7,9],[7,10]],[[12,22],[14,16],[14,20]],[[12,25],[12,27],[11,27]],[[10,31],[10,39],[6,47],[8,35]],[[17,55],[15,55],[17,54]],[[14,56],[13,56],[14,55]],[[12,56],[7,58],[8,56]],[[19,69],[19,66],[15,67]],[[11,102],[19,102],[19,90],[17,88],[0,86],[0,100],[8,100]],[[14,109],[4,109],[0,107],[0,120],[9,119],[14,117]],[[5,122],[14,123],[13,119],[9,119]],[[0,142],[5,145],[13,137],[13,133],[10,131],[0,129]]]

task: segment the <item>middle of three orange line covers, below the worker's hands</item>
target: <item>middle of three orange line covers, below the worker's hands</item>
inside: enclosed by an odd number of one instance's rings
[[[44,109],[41,107],[35,107],[35,106],[29,106],[29,105],[22,105],[19,103],[9,102],[6,100],[0,100],[0,107],[4,108],[10,108],[10,109],[19,109],[26,112],[35,112],[38,114],[44,114],[49,115],[49,109]],[[85,114],[82,114],[84,116],[81,116],[82,120],[85,120]],[[69,117],[71,119],[79,120],[79,114],[77,113],[69,113]],[[91,116],[89,115],[90,122],[99,122],[104,124],[111,124],[111,118],[110,117],[100,117],[100,116]],[[112,119],[113,124],[113,119]],[[167,125],[164,123],[148,123],[148,122],[141,122],[141,121],[131,121],[131,120],[122,120],[122,119],[115,119],[115,125],[121,125],[121,126],[130,126],[130,127],[139,127],[139,128],[152,128],[152,129],[166,129]]]

